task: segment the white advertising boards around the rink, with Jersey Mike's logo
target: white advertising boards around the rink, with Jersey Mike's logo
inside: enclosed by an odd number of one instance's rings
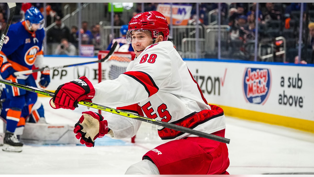
[[[97,60],[62,56],[44,59],[48,66]],[[216,59],[184,61],[208,103],[221,106],[226,115],[314,132],[313,66]],[[49,91],[84,75],[93,84],[98,83],[98,63],[50,73],[51,83],[45,88]]]

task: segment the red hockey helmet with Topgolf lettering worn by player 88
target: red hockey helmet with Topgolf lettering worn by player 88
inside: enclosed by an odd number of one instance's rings
[[[130,36],[133,30],[149,30],[153,40],[159,36],[159,32],[163,32],[164,41],[169,37],[168,22],[165,16],[158,11],[139,13],[130,20],[127,32],[128,43],[132,43]]]

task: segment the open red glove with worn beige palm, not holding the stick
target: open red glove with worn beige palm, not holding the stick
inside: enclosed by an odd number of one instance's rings
[[[101,114],[93,111],[82,112],[78,123],[74,125],[75,137],[87,147],[94,147],[95,139],[103,137],[110,130]]]

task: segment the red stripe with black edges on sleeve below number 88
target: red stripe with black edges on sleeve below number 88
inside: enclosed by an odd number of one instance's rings
[[[130,76],[133,79],[137,80],[139,83],[141,83],[144,86],[145,90],[147,91],[148,97],[157,93],[159,90],[153,78],[143,71],[128,71],[123,74]]]

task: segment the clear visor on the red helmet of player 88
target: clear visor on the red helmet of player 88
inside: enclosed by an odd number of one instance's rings
[[[153,41],[154,38],[158,37],[158,31],[154,30],[153,34],[150,30],[146,29],[135,29],[128,30],[126,34],[127,43],[141,43],[145,41]]]

